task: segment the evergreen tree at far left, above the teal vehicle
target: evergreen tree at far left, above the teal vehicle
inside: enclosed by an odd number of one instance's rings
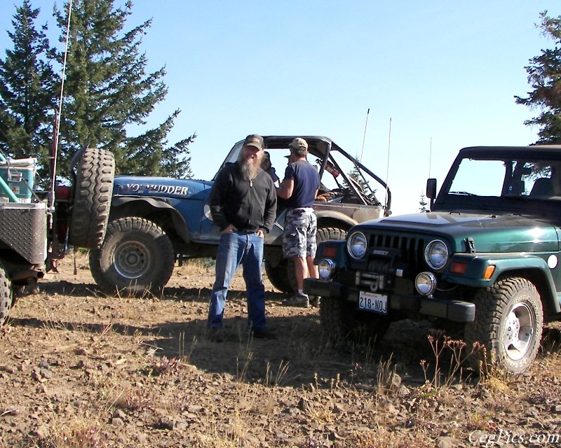
[[[13,49],[0,60],[0,149],[6,157],[36,157],[48,166],[51,151],[55,85],[58,78],[50,59],[46,25],[36,30],[39,9],[29,0],[16,8],[13,32],[8,31]]]

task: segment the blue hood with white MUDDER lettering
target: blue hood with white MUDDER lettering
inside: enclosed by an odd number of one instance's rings
[[[212,187],[210,181],[168,177],[116,176],[113,195],[191,197]]]

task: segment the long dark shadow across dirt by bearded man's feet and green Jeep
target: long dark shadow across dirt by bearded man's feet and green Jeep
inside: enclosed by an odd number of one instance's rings
[[[374,387],[380,365],[388,360],[405,384],[423,382],[419,363],[427,352],[412,346],[409,337],[407,340],[384,337],[376,346],[333,342],[323,332],[316,314],[271,317],[268,323],[278,339],[252,337],[247,320],[242,317],[224,319],[223,342],[212,342],[208,338],[203,319],[150,327],[120,323],[109,326],[111,332],[119,335],[147,336],[143,346],[151,347],[154,356],[181,359],[198,370],[226,374],[248,384],[294,387],[310,384],[316,388],[331,388],[344,382]],[[10,325],[93,334],[107,331],[108,327],[39,318],[11,318]],[[423,332],[421,328],[417,330],[419,334]],[[403,333],[403,330],[395,332]]]

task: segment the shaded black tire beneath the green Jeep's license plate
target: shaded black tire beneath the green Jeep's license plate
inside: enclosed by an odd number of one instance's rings
[[[332,341],[363,344],[375,344],[384,337],[391,323],[387,317],[358,311],[353,302],[336,297],[321,297],[320,322]]]

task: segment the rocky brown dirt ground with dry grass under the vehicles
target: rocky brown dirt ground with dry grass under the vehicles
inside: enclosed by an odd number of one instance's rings
[[[241,274],[227,340],[211,342],[214,272],[201,263],[141,299],[98,292],[86,255],[59,270],[0,328],[2,448],[561,445],[555,326],[523,377],[480,380],[447,375],[459,346],[424,322],[393,323],[374,348],[330,342],[318,309],[283,307],[269,281],[278,339],[254,340]]]

